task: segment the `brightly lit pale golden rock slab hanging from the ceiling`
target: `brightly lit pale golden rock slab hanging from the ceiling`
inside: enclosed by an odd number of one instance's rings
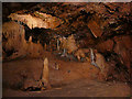
[[[36,16],[32,16],[31,14],[16,14],[11,13],[8,18],[11,18],[11,20],[16,20],[19,22],[23,22],[26,24],[30,29],[34,28],[45,28],[45,29],[55,29],[57,25],[61,24],[61,20],[52,16],[46,13],[41,12],[34,12]],[[37,18],[38,16],[38,18]]]

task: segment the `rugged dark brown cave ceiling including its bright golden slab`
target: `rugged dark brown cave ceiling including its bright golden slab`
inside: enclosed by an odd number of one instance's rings
[[[3,22],[10,18],[23,22],[30,29],[51,29],[55,34],[84,34],[85,31],[86,35],[90,32],[95,38],[106,37],[131,30],[131,4],[132,2],[3,3]],[[6,12],[7,9],[10,10]]]

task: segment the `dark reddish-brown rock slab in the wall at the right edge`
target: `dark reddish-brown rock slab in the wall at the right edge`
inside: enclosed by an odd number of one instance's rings
[[[120,56],[120,61],[129,69],[131,68],[132,36],[116,36],[114,52]]]

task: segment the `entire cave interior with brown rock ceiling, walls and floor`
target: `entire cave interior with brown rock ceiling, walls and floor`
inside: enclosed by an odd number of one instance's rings
[[[131,96],[132,2],[2,4],[6,91],[79,96],[76,88],[82,88],[80,96],[89,89],[97,97]]]

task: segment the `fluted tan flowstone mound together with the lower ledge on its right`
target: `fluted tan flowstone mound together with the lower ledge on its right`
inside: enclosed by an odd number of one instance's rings
[[[25,41],[25,31],[23,25],[11,21],[2,25],[2,58],[14,59],[18,57],[40,57],[43,53],[43,47],[40,44]]]

